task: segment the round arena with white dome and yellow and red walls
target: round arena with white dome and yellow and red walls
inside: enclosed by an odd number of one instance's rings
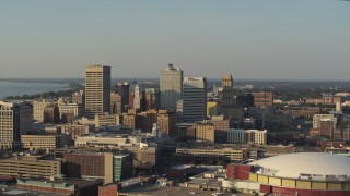
[[[350,158],[320,152],[287,154],[229,164],[237,189],[276,195],[350,195]],[[241,180],[241,181],[240,181]],[[252,193],[252,192],[248,192]]]

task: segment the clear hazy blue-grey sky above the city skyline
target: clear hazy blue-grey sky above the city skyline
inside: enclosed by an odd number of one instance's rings
[[[350,79],[350,1],[3,0],[0,78]]]

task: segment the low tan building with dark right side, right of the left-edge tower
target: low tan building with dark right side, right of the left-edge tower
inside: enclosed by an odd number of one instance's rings
[[[71,137],[65,134],[56,135],[21,135],[24,149],[55,149],[71,145]]]

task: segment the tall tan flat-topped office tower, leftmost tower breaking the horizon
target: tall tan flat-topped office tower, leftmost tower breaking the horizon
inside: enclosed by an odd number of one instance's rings
[[[110,66],[90,65],[85,76],[85,117],[110,110]]]

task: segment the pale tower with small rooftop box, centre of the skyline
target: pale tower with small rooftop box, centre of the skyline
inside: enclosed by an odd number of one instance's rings
[[[184,73],[179,68],[168,64],[161,71],[161,107],[166,110],[175,110],[176,102],[182,99]]]

